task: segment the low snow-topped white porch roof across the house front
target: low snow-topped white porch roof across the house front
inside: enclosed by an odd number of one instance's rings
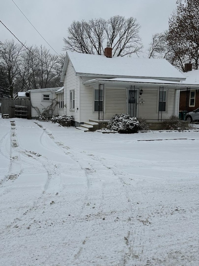
[[[125,79],[125,78],[116,78],[116,79],[94,79],[87,80],[83,82],[84,85],[87,86],[95,86],[98,84],[105,84],[109,87],[130,87],[130,86],[138,86],[142,88],[150,88],[150,87],[164,87],[168,89],[199,89],[199,84],[186,84],[181,82],[167,81],[167,80],[155,80],[155,79]]]

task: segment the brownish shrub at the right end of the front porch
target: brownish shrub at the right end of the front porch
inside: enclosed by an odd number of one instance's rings
[[[163,127],[166,130],[185,130],[187,129],[184,121],[179,120],[178,116],[171,115],[169,118],[163,120]]]

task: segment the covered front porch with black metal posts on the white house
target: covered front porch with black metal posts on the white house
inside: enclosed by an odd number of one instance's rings
[[[108,120],[116,113],[128,113],[150,122],[162,121],[178,115],[179,89],[196,87],[168,80],[124,78],[93,79],[83,84],[93,88],[95,116],[89,119],[95,121]]]

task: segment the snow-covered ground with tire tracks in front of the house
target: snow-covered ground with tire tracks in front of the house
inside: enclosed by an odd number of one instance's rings
[[[0,265],[198,265],[198,147],[0,119]]]

